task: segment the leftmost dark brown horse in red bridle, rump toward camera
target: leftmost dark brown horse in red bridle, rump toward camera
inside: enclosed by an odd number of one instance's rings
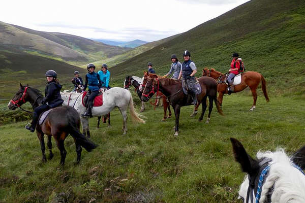
[[[20,89],[13,96],[8,104],[10,110],[15,110],[17,107],[21,108],[21,105],[27,101],[31,103],[33,109],[41,105],[42,94],[38,89],[29,87],[28,85],[22,86],[20,83]],[[44,134],[48,136],[48,148],[49,148],[49,158],[53,158],[52,153],[52,142],[51,137],[53,136],[56,145],[60,151],[60,165],[65,164],[65,159],[67,151],[65,149],[64,141],[69,134],[74,139],[77,160],[76,163],[79,163],[81,151],[84,147],[88,152],[92,151],[97,147],[92,141],[88,140],[80,131],[80,119],[78,113],[72,107],[56,107],[47,115],[43,123],[37,124],[36,133],[40,141],[40,147],[42,151],[42,161],[46,162],[45,154],[45,143],[44,143]]]

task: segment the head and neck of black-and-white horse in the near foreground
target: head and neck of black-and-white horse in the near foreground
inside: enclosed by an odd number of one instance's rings
[[[305,202],[305,146],[289,158],[283,149],[259,151],[253,159],[242,144],[230,138],[235,160],[247,175],[239,188],[243,202]]]

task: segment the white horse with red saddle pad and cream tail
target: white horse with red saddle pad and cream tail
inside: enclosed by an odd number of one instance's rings
[[[64,99],[66,106],[71,106],[78,112],[83,128],[83,133],[90,137],[88,117],[82,117],[86,108],[82,105],[82,94],[78,92],[60,92]],[[138,114],[133,106],[133,99],[131,93],[120,87],[113,87],[103,93],[103,105],[100,107],[93,107],[92,115],[94,117],[108,114],[115,107],[117,107],[123,116],[123,133],[127,132],[127,109],[129,107],[132,121],[134,123],[145,123],[142,118],[144,116]],[[142,118],[141,118],[142,117]]]

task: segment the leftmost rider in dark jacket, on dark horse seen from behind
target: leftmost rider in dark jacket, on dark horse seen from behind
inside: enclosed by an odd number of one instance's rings
[[[47,86],[45,88],[45,97],[42,99],[40,106],[34,109],[32,125],[28,124],[25,126],[25,129],[28,129],[31,132],[35,131],[36,124],[39,119],[39,115],[49,109],[62,106],[64,100],[60,96],[60,90],[62,85],[59,84],[57,80],[57,73],[53,70],[46,72],[45,76],[47,77]]]

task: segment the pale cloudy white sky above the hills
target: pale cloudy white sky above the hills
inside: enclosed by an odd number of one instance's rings
[[[249,0],[3,1],[0,21],[113,41],[161,40],[188,31]]]

